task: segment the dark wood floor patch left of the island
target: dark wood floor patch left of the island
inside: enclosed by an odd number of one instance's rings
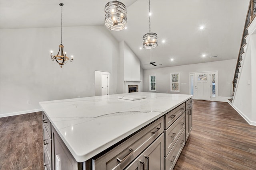
[[[43,170],[42,112],[0,118],[0,170]]]

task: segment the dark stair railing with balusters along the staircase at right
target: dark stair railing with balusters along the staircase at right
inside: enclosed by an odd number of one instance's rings
[[[240,62],[243,60],[242,54],[244,53],[244,47],[246,45],[246,37],[248,35],[247,28],[250,25],[250,23],[252,23],[252,20],[254,20],[255,17],[256,17],[256,0],[250,0],[250,4],[248,7],[247,16],[246,16],[246,21],[244,23],[244,31],[243,31],[243,35],[242,35],[240,50],[238,53],[238,59],[236,62],[236,71],[235,71],[234,78],[233,78],[233,94],[232,94],[232,96],[234,96],[234,92],[235,92],[235,88],[236,88],[236,84],[237,84],[239,68],[241,67]]]

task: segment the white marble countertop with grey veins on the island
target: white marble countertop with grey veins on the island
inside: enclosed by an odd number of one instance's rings
[[[146,96],[141,100],[118,96]],[[77,162],[84,162],[158,119],[192,95],[135,92],[39,102]]]

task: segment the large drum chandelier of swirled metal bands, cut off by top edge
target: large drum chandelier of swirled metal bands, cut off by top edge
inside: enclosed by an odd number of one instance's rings
[[[120,31],[127,25],[126,7],[122,2],[110,1],[105,5],[105,25],[113,31]]]

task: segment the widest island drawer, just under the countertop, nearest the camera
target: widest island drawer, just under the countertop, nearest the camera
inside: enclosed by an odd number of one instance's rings
[[[106,154],[95,158],[95,170],[124,169],[163,132],[164,118],[161,117]]]

